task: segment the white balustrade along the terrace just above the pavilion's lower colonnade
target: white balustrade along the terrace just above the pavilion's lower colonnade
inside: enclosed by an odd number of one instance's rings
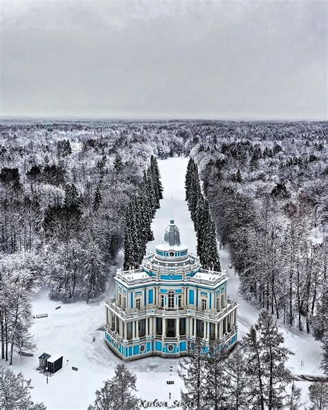
[[[231,310],[237,308],[237,301],[228,300],[228,305],[225,308],[219,310],[217,313],[202,312],[200,310],[193,309],[181,309],[181,310],[165,310],[165,309],[146,309],[137,310],[136,312],[125,312],[118,305],[116,305],[115,298],[107,299],[106,305],[114,312],[118,313],[122,319],[134,319],[144,316],[156,316],[156,317],[180,317],[180,316],[193,316],[201,319],[211,319],[217,321],[221,317],[226,316]]]

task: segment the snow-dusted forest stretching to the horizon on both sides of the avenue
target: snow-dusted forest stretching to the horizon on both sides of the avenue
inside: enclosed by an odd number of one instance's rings
[[[2,121],[1,326],[16,323],[6,316],[12,303],[28,304],[41,284],[66,302],[104,292],[118,251],[134,240],[127,220],[147,187],[160,189],[151,157],[186,156],[242,296],[322,339],[327,131],[323,122]],[[158,191],[147,235],[138,238],[141,253],[160,198]],[[126,266],[142,256],[130,254]],[[17,281],[21,292],[10,298]]]

